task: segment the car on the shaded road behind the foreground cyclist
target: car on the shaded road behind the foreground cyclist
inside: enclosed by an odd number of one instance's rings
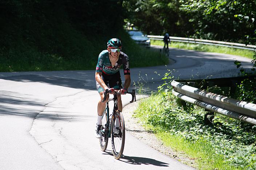
[[[141,31],[131,30],[131,31],[128,31],[128,34],[137,44],[140,44],[141,46],[144,46],[144,47],[150,47],[150,39],[147,37],[147,35],[144,35]]]

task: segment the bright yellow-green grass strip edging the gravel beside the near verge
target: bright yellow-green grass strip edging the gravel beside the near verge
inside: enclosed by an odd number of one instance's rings
[[[148,103],[152,102],[151,98],[148,98],[148,102],[143,101],[140,103],[139,109],[148,107]],[[168,131],[164,131],[161,127],[145,124],[148,116],[147,114],[143,114],[143,112],[136,113],[135,116],[140,119],[141,123],[144,123],[144,128],[153,131],[156,137],[163,141],[165,146],[171,147],[176,152],[183,152],[196,162],[196,165],[189,165],[189,163],[187,165],[196,167],[197,169],[236,169],[224,163],[223,156],[216,154],[207,141],[202,139],[194,143],[190,142],[182,136],[172,135]]]

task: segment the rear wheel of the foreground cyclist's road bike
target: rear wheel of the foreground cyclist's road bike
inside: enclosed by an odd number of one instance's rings
[[[106,112],[104,112],[102,116],[102,127],[105,129],[104,130],[104,135],[101,136],[100,138],[100,148],[103,152],[107,149],[108,146],[108,129],[109,127],[107,126],[107,122],[109,121],[108,116]]]

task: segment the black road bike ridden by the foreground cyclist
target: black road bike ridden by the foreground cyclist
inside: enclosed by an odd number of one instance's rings
[[[106,100],[108,94],[108,89],[104,92],[104,99],[102,102]],[[117,108],[117,94],[122,94],[115,90],[115,94],[113,98],[109,98],[106,103],[106,109],[102,116],[102,129],[101,129],[101,138],[100,138],[100,147],[103,152],[107,149],[108,138],[111,138],[112,143],[112,152],[113,156],[119,160],[124,151],[124,142],[125,142],[125,126],[124,126],[124,117],[120,110]],[[135,90],[131,92],[127,92],[127,94],[132,95],[132,103],[136,102]],[[112,114],[109,114],[109,106],[108,102],[114,101],[114,107]]]

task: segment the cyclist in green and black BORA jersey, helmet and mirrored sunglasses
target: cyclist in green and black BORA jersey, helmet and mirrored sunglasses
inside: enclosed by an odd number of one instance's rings
[[[117,38],[112,38],[107,43],[107,50],[103,50],[98,59],[95,72],[96,88],[100,94],[97,112],[98,118],[95,129],[95,136],[101,137],[102,116],[105,110],[109,95],[104,102],[104,91],[108,89],[110,94],[114,94],[114,89],[118,89],[122,94],[126,94],[131,84],[131,76],[129,69],[129,58],[121,52],[122,43]],[[122,85],[119,69],[123,65],[124,69],[124,87]],[[109,88],[108,86],[109,85]],[[117,107],[120,111],[123,109],[121,95],[117,95]]]

